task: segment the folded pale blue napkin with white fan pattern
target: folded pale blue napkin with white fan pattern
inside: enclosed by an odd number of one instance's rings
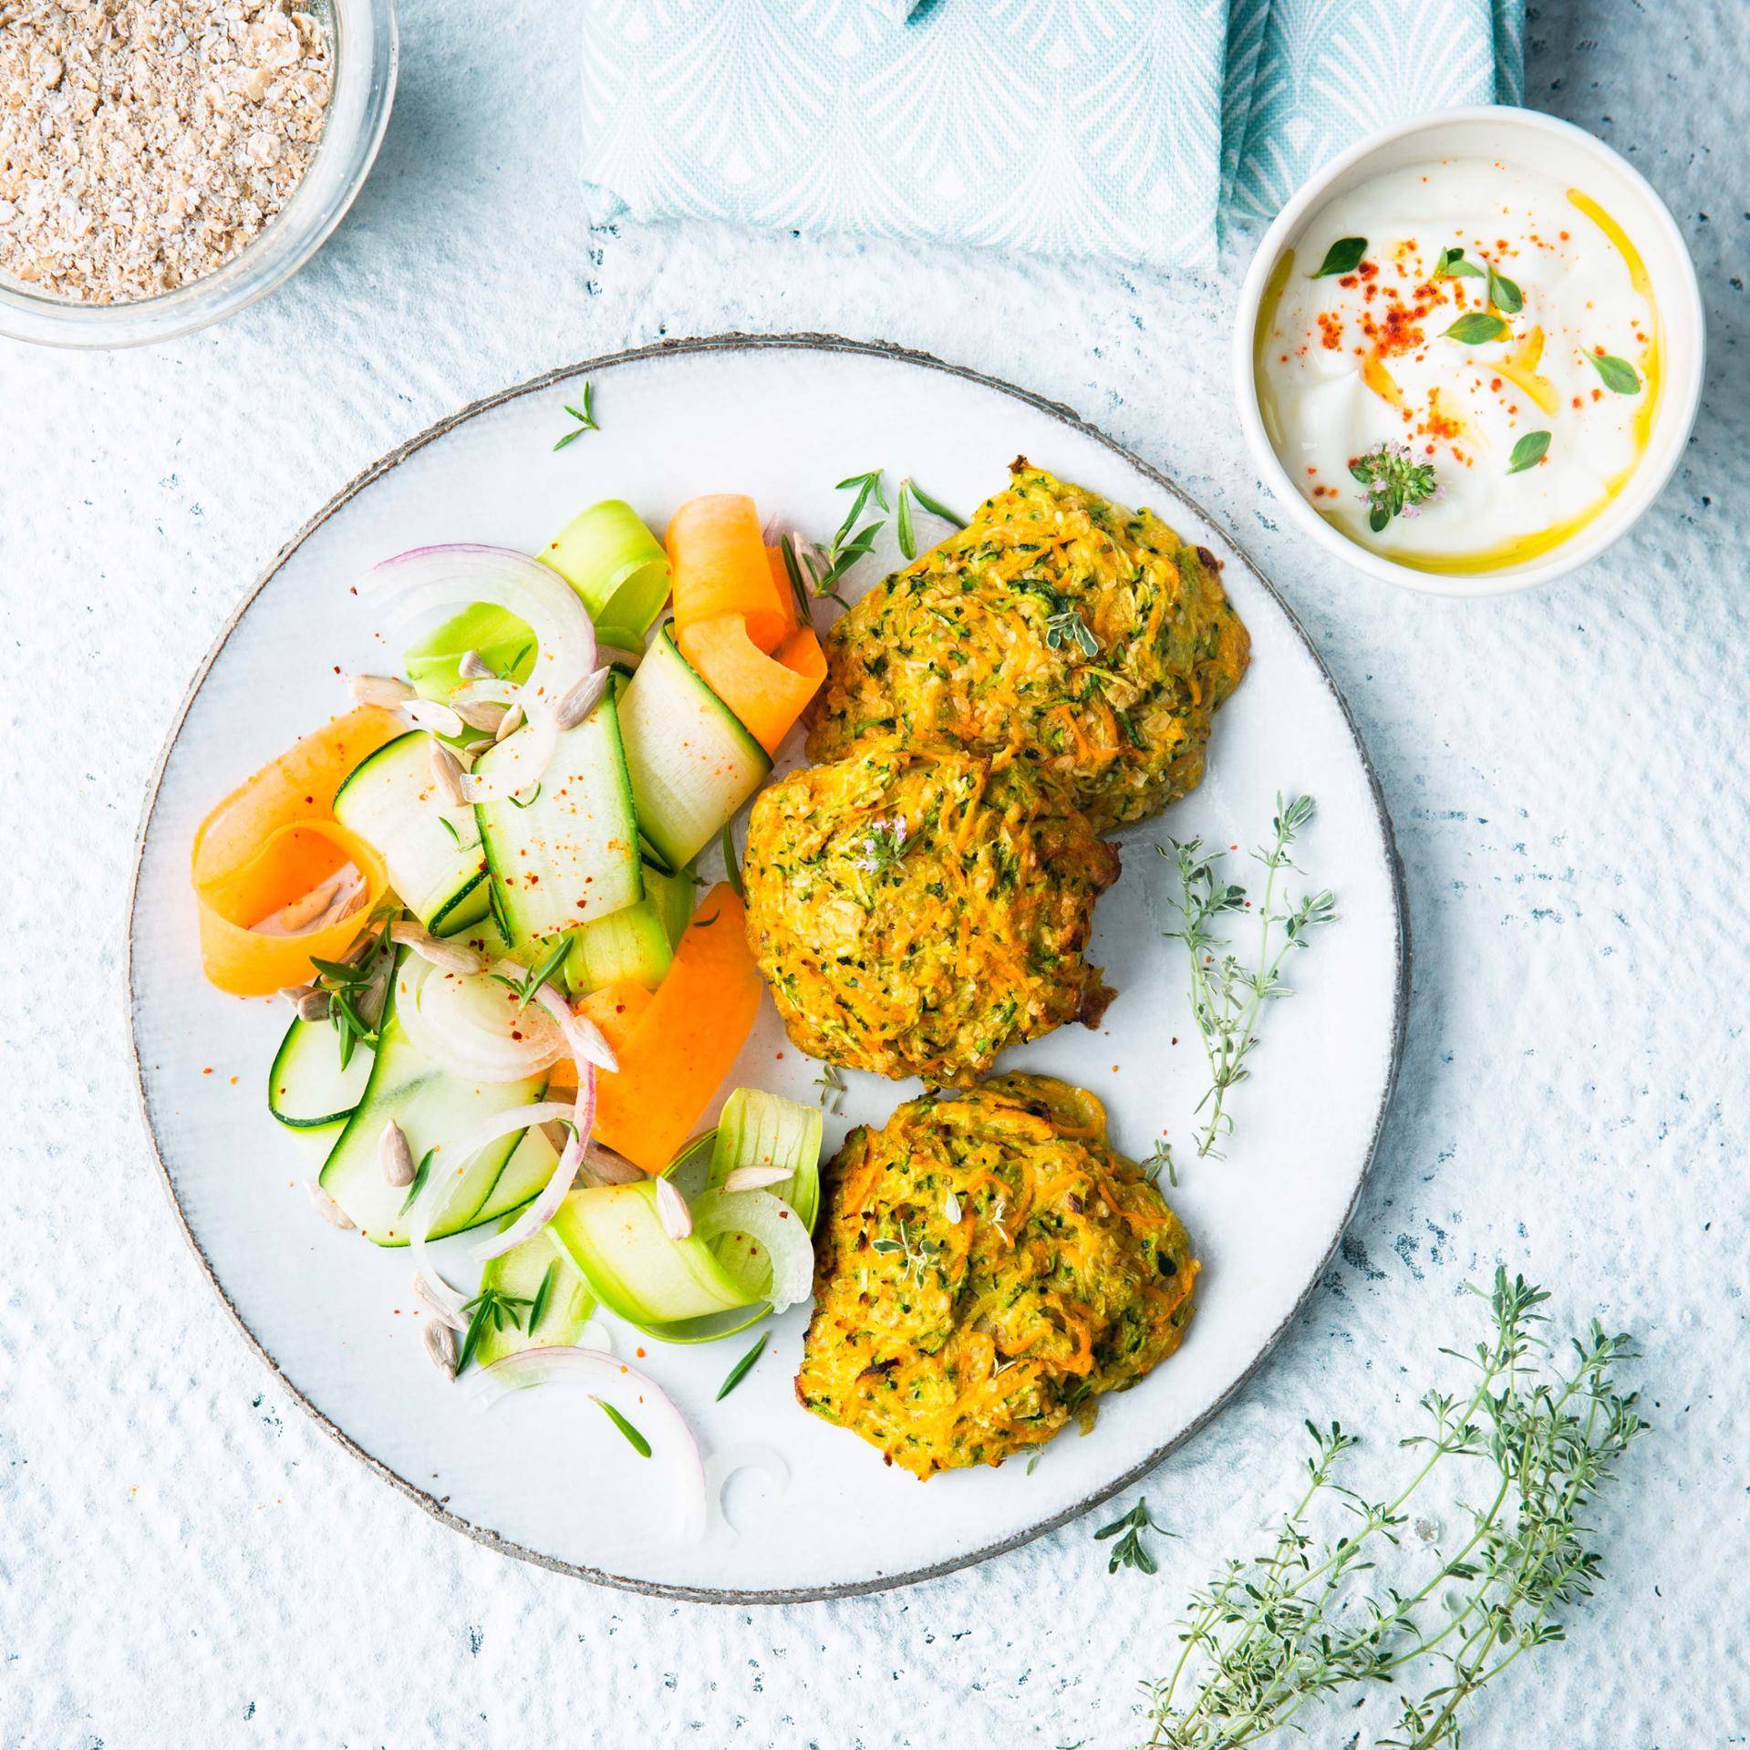
[[[1208,268],[1395,117],[1516,103],[1524,0],[586,0],[635,219]]]

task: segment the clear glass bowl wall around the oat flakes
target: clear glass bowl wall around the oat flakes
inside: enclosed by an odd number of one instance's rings
[[[396,94],[396,0],[312,0],[334,94],[315,158],[261,234],[215,273],[158,298],[82,304],[0,276],[0,334],[44,346],[142,346],[222,322],[284,285],[334,233],[383,144]]]

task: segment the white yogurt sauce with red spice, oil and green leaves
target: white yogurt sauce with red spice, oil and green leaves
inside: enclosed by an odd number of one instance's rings
[[[1488,338],[1449,338],[1460,318]],[[1634,245],[1582,191],[1480,158],[1410,164],[1320,208],[1270,275],[1260,411],[1290,478],[1353,541],[1421,570],[1498,570],[1582,528],[1634,472],[1657,324]],[[1421,471],[1412,497],[1428,467],[1435,490],[1376,530],[1353,469],[1377,476],[1381,453]]]

